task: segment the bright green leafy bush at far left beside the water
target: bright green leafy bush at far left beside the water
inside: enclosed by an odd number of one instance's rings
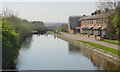
[[[9,22],[2,19],[2,68],[15,68],[14,59],[17,58],[19,50],[18,33],[9,25]]]

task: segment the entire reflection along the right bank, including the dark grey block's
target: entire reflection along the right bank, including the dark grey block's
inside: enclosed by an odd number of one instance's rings
[[[89,50],[86,50],[84,48],[78,48],[68,43],[68,50],[69,53],[81,53],[86,56],[89,60],[91,60],[97,70],[120,70],[119,65],[111,63],[110,61],[104,59],[104,57],[100,57],[97,54],[90,52]]]

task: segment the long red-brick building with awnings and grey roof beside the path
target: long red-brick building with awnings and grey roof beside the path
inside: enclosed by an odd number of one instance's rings
[[[70,19],[69,19],[70,20]],[[87,36],[91,38],[106,38],[107,36],[107,19],[102,15],[81,16],[77,22],[72,20],[68,22],[69,33],[72,26],[77,26],[74,33],[80,36]]]

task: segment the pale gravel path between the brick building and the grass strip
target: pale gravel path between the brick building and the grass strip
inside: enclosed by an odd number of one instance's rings
[[[110,47],[110,48],[120,50],[120,46],[118,47],[118,45],[115,45],[115,44],[110,44],[110,43],[106,43],[106,42],[102,42],[102,41],[97,41],[96,39],[93,39],[93,38],[76,36],[76,35],[67,34],[67,33],[63,33],[63,32],[62,32],[62,34],[64,34],[64,36],[66,36],[70,39],[89,41],[89,42],[92,42],[92,43],[96,43],[96,44],[100,44],[100,45],[103,45],[103,46],[106,46],[106,47]]]

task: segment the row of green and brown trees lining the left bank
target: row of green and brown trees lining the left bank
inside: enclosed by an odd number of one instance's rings
[[[2,68],[14,69],[14,59],[18,56],[20,44],[32,31],[44,31],[42,21],[28,21],[17,17],[15,14],[4,10],[0,16],[2,26]]]

